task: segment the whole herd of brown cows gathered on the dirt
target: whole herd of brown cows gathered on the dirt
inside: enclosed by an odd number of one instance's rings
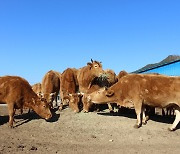
[[[125,71],[116,75],[113,70],[103,70],[100,62],[91,60],[80,69],[67,68],[63,73],[51,70],[41,83],[32,86],[21,77],[2,76],[0,104],[8,106],[11,128],[16,109],[32,109],[48,120],[53,108],[61,111],[69,106],[74,112],[89,112],[99,109],[98,104],[108,104],[113,112],[112,104],[116,104],[119,108],[135,109],[135,128],[147,123],[149,107],[171,109],[176,115],[169,128],[173,131],[180,121],[180,77]]]

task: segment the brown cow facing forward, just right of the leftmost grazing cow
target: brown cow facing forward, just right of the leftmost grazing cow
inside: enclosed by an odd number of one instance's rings
[[[42,95],[49,104],[51,104],[51,108],[53,108],[53,101],[55,100],[57,106],[57,96],[60,91],[60,77],[61,74],[59,72],[50,70],[48,71],[43,79],[42,79]]]

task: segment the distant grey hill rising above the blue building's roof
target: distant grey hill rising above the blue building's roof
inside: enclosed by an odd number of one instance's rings
[[[168,64],[168,63],[171,63],[171,62],[174,62],[174,61],[177,61],[177,60],[180,60],[180,56],[178,56],[178,55],[169,55],[167,58],[165,58],[164,60],[160,61],[159,63],[148,64],[148,65],[146,65],[146,66],[144,66],[144,67],[134,71],[133,73],[139,73],[139,72],[142,72],[144,70],[155,68],[157,66]]]

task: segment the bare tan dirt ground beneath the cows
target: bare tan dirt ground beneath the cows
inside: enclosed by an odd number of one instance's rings
[[[15,128],[11,129],[7,106],[0,106],[0,154],[180,153],[180,124],[174,132],[167,130],[173,117],[157,115],[135,129],[134,112],[74,113],[66,108],[53,113],[47,122],[25,111],[16,115]]]

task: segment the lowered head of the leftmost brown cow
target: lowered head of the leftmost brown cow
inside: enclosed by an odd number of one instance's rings
[[[32,98],[32,109],[42,118],[48,120],[52,117],[49,104],[45,99]]]

